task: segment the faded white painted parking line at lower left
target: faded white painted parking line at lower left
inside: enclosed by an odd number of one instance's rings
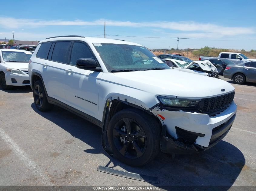
[[[3,123],[3,122],[2,122]],[[50,180],[48,179],[48,177],[42,172],[42,170],[39,168],[39,166],[35,163],[35,161],[33,161],[32,159],[29,158],[29,156],[12,140],[12,138],[4,132],[4,130],[2,130],[0,128],[0,137],[10,146],[10,148],[14,151],[14,153],[16,155],[18,155],[18,157],[20,159],[22,159],[24,161],[24,163],[32,168],[34,170],[34,172],[38,175],[42,177],[42,183],[44,185],[49,185],[52,186],[53,184],[50,182]]]

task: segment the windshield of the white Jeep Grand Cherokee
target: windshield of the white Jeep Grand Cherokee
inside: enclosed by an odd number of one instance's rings
[[[143,46],[93,43],[108,72],[170,69],[161,59]]]

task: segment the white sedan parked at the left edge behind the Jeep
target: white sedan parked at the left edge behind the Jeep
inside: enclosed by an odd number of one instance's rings
[[[0,49],[0,87],[2,89],[30,85],[28,62],[31,56],[32,53],[25,50]]]

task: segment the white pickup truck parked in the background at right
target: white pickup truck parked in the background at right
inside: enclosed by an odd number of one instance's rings
[[[216,57],[200,56],[199,60],[206,60],[206,59],[212,59],[212,58],[216,58]],[[248,60],[253,60],[253,59],[247,58],[246,56],[244,56],[241,53],[228,53],[228,52],[220,53],[218,58],[229,59],[232,62],[234,62],[235,64],[238,64],[238,63],[241,63],[244,61],[248,61]]]

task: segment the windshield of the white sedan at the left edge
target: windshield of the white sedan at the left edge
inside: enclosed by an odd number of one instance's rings
[[[9,62],[28,62],[31,56],[31,53],[2,51],[3,60]]]

